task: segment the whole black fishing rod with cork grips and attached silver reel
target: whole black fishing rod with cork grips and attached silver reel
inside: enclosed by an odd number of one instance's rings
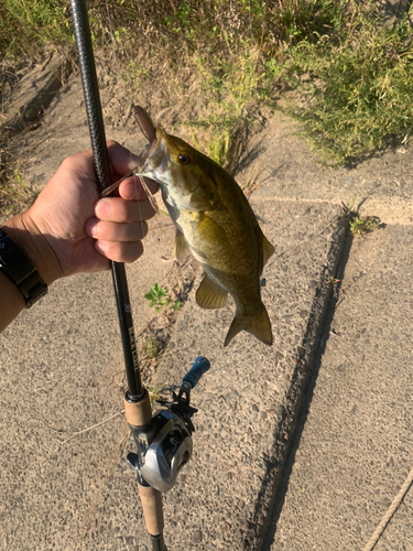
[[[112,182],[86,0],[70,0],[70,10],[95,169],[102,194]],[[196,358],[182,380],[178,395],[173,393],[172,401],[162,402],[160,412],[152,415],[149,392],[140,374],[124,264],[115,261],[110,264],[128,381],[124,412],[138,449],[138,453],[129,453],[127,460],[138,473],[138,488],[152,550],[167,551],[163,537],[162,491],[173,487],[178,471],[192,456],[192,433],[195,429],[191,418],[197,410],[189,406],[191,390],[210,366],[206,358]]]

